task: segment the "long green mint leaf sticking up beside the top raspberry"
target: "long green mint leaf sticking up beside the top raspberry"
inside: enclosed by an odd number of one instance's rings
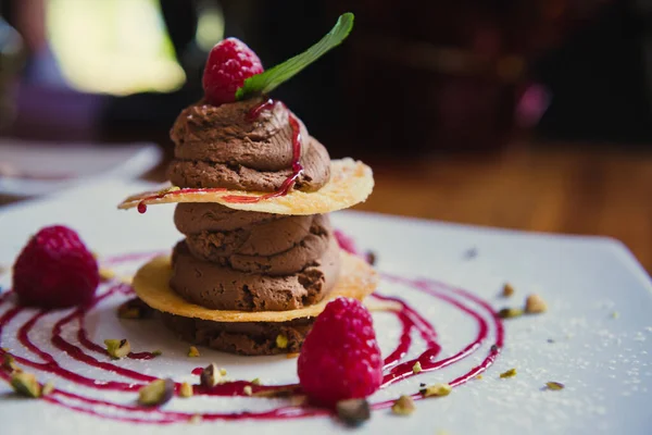
[[[317,44],[297,54],[292,59],[274,66],[261,74],[253,75],[244,80],[241,88],[236,91],[236,99],[243,100],[252,95],[268,94],[284,82],[303,71],[304,67],[326,54],[330,49],[339,46],[353,28],[353,14],[347,12],[340,15],[335,26]]]

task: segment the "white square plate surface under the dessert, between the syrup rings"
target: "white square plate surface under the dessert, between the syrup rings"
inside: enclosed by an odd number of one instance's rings
[[[106,259],[133,252],[167,250],[180,238],[172,222],[173,207],[150,207],[140,215],[115,209],[126,195],[150,186],[122,182],[98,182],[59,194],[55,197],[5,208],[0,211],[0,264],[9,265],[27,237],[43,225],[63,223],[77,229],[86,244]],[[384,274],[379,291],[408,301],[437,331],[441,352],[437,359],[455,355],[474,340],[482,322],[488,337],[460,362],[441,370],[422,373],[394,384],[371,399],[372,402],[412,394],[419,383],[450,382],[480,364],[497,341],[498,330],[491,313],[480,303],[454,293],[469,290],[493,309],[519,306],[525,296],[538,293],[549,304],[540,315],[505,320],[504,348],[496,362],[443,398],[416,402],[411,417],[396,417],[387,409],[373,412],[372,420],[359,427],[360,433],[426,434],[548,434],[548,433],[652,433],[652,285],[647,273],[622,244],[604,238],[562,237],[488,228],[440,224],[418,220],[366,213],[336,213],[334,223],[355,238],[359,247],[377,254]],[[469,254],[471,252],[475,256]],[[120,265],[121,273],[133,273],[142,260]],[[399,284],[392,277],[424,278],[427,285],[449,296],[452,301],[432,298],[414,286]],[[429,279],[429,281],[428,281]],[[434,284],[447,283],[448,286]],[[516,294],[499,296],[510,282]],[[7,288],[7,274],[0,283]],[[426,284],[424,284],[426,283]],[[105,290],[105,286],[100,291]],[[163,355],[151,361],[121,360],[120,368],[176,381],[196,381],[196,366],[215,361],[235,380],[260,377],[266,384],[296,382],[296,359],[285,357],[247,358],[201,349],[202,356],[186,357],[188,345],[177,340],[156,321],[118,321],[114,308],[123,297],[109,298],[88,314],[89,338],[127,337],[134,350],[160,349]],[[462,304],[479,313],[480,320],[455,308]],[[0,315],[11,307],[0,304]],[[135,382],[111,371],[79,363],[57,350],[50,343],[53,324],[70,311],[40,319],[29,338],[50,352],[57,363],[89,378]],[[3,347],[11,352],[38,361],[16,339],[16,330],[35,311],[23,311],[4,328]],[[396,346],[401,327],[390,313],[374,314],[375,328],[384,355]],[[500,323],[500,322],[499,322]],[[75,324],[62,330],[66,340],[79,346]],[[423,351],[421,338],[413,334],[409,357]],[[99,352],[88,351],[99,361],[111,363]],[[500,373],[515,368],[516,376],[500,378]],[[61,390],[86,395],[130,407],[135,393],[97,391],[75,385],[47,372],[41,381],[53,380]],[[562,390],[546,389],[554,381]],[[283,403],[281,399],[248,397],[193,397],[173,399],[164,407],[168,412],[258,412]],[[71,405],[71,403],[68,403]],[[83,405],[86,407],[86,405]],[[87,408],[88,409],[88,408]],[[114,408],[97,407],[103,414],[121,414]],[[125,411],[126,412],[126,411]],[[38,415],[38,417],[37,417]],[[121,414],[123,415],[123,414]],[[124,415],[123,415],[124,417]],[[138,419],[160,418],[158,413],[130,412]],[[328,417],[280,419],[271,421],[212,421],[198,424],[136,424],[92,417],[45,400],[16,398],[0,385],[0,433],[336,433],[342,426]]]

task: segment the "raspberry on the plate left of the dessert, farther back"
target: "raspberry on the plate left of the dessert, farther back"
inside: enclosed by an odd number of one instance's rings
[[[64,308],[92,301],[98,263],[77,233],[65,226],[40,229],[23,248],[13,270],[22,304]]]

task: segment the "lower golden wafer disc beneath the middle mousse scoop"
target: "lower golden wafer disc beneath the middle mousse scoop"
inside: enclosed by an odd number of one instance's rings
[[[378,283],[378,275],[364,260],[340,251],[342,269],[340,278],[328,297],[314,306],[290,311],[230,311],[211,310],[177,295],[170,288],[172,275],[170,257],[156,257],[145,264],[134,276],[136,295],[155,310],[185,318],[197,318],[213,322],[287,322],[299,318],[318,315],[329,300],[338,296],[364,299],[372,294]]]

